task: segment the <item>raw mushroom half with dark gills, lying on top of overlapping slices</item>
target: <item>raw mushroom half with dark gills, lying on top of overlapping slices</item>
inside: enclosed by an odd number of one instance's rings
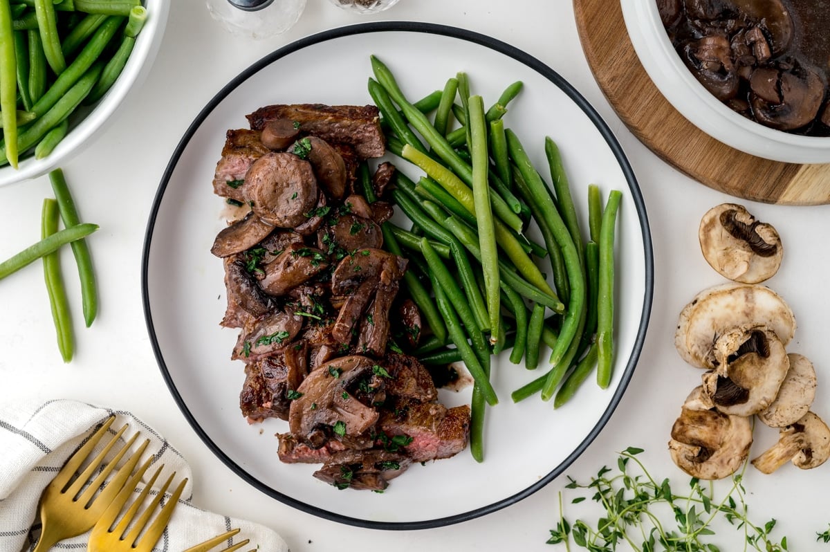
[[[715,408],[751,416],[775,400],[789,369],[784,345],[764,326],[738,328],[715,341],[716,370],[703,374],[703,389]]]

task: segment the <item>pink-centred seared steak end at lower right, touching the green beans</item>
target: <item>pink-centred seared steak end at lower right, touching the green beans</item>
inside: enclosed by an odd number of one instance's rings
[[[470,407],[447,408],[440,403],[413,403],[384,410],[378,421],[388,435],[412,438],[403,452],[413,462],[449,458],[464,450],[470,437]]]

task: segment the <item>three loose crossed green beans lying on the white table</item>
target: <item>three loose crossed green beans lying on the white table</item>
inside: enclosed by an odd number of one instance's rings
[[[55,198],[46,198],[43,201],[41,241],[6,261],[0,262],[0,280],[32,264],[37,259],[43,261],[43,274],[46,279],[52,319],[55,322],[58,349],[64,362],[68,363],[75,349],[74,332],[58,252],[61,247],[70,244],[78,266],[78,276],[81,279],[84,321],[86,327],[89,327],[98,311],[98,293],[92,258],[85,237],[95,232],[98,227],[95,224],[80,221],[75,202],[61,169],[52,170],[49,173],[49,179]],[[63,230],[58,230],[59,219],[63,221],[65,227]]]

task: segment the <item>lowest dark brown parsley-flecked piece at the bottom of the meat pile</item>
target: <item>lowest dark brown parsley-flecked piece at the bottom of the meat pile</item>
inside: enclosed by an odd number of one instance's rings
[[[401,475],[411,463],[408,457],[395,452],[347,450],[335,452],[314,476],[339,489],[383,491],[388,481]]]

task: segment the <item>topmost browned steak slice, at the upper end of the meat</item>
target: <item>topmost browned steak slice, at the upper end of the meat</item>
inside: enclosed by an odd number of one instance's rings
[[[270,120],[293,120],[300,123],[302,134],[349,144],[364,159],[381,157],[386,150],[378,108],[374,105],[267,105],[247,115],[247,119],[255,130],[263,129]]]

